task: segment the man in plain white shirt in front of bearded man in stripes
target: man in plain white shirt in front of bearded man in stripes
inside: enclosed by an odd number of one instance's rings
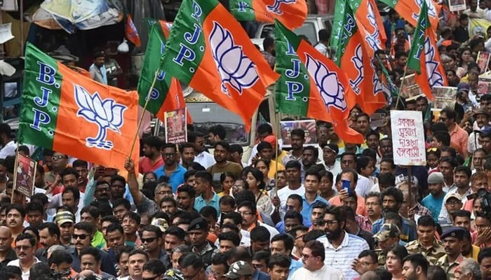
[[[321,241],[311,240],[305,244],[302,250],[303,267],[293,272],[292,280],[344,280],[341,271],[325,265],[324,245]]]

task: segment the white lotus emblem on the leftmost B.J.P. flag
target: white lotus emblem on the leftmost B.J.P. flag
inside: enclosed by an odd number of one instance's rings
[[[111,150],[114,146],[112,141],[107,141],[107,130],[113,130],[121,134],[119,130],[123,126],[123,111],[127,106],[117,104],[114,99],[100,99],[98,92],[92,96],[81,85],[74,85],[74,94],[79,111],[76,116],[82,116],[88,122],[95,123],[99,128],[96,137],[87,137],[86,146]]]

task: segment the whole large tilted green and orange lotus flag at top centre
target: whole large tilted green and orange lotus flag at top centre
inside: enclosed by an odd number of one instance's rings
[[[278,74],[217,0],[182,1],[162,69],[241,116],[245,129]]]

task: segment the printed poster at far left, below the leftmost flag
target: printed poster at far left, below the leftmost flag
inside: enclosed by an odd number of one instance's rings
[[[13,179],[13,189],[26,197],[32,196],[34,177],[36,176],[36,161],[18,153],[16,172]]]

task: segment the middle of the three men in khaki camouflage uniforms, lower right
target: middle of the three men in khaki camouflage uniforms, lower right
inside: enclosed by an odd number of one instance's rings
[[[445,255],[443,242],[435,237],[435,221],[430,216],[422,216],[417,221],[417,239],[406,246],[408,253],[421,253],[430,265],[436,265],[439,258]]]

